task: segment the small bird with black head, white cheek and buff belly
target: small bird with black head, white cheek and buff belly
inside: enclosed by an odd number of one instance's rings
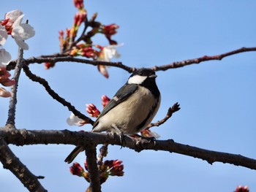
[[[92,132],[113,131],[133,135],[147,128],[161,102],[156,77],[152,69],[141,68],[133,72],[102,110]],[[83,147],[75,147],[65,162],[70,164],[81,151]]]

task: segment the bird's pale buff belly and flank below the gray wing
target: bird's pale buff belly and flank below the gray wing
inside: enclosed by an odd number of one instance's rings
[[[106,115],[100,118],[99,124],[94,128],[94,131],[106,131],[113,126],[116,126],[116,128],[118,128],[124,134],[138,133],[138,131],[146,128],[146,126],[151,123],[154,115],[156,115],[159,104],[156,112],[151,115],[151,118],[146,121],[145,125],[140,127],[140,130],[138,130],[138,126],[147,118],[148,112],[155,107],[152,104],[155,103],[156,101],[152,93],[146,88],[139,87],[138,91],[135,91],[135,93],[132,95],[132,98],[118,104]]]

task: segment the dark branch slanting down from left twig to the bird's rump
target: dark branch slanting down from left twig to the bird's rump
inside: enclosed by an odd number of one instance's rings
[[[29,66],[23,66],[23,70],[26,73],[26,76],[28,76],[30,80],[32,80],[34,82],[39,82],[39,84],[43,85],[45,87],[45,90],[49,93],[50,96],[53,97],[53,99],[56,99],[56,101],[59,101],[61,104],[66,106],[69,109],[69,111],[72,111],[75,114],[75,116],[77,116],[78,118],[81,118],[83,120],[86,120],[88,123],[91,123],[91,125],[94,124],[94,121],[91,120],[91,118],[88,118],[88,117],[86,117],[86,115],[83,115],[81,112],[76,110],[75,107],[72,106],[72,104],[70,104],[68,101],[66,101],[61,96],[59,96],[55,91],[53,91],[53,89],[50,88],[50,85],[48,84],[48,82],[45,79],[33,74],[29,70]]]

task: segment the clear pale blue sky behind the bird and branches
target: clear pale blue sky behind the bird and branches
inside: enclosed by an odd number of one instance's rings
[[[256,45],[255,1],[85,1],[89,15],[120,26],[113,39],[121,61],[127,66],[151,67],[203,55],[217,55]],[[21,9],[36,31],[27,43],[24,58],[59,52],[58,31],[72,25],[72,1],[3,1],[0,15]],[[107,45],[103,37],[94,39]],[[18,48],[12,39],[4,46],[12,58]],[[157,72],[162,105],[154,121],[162,119],[168,107],[178,101],[181,110],[164,125],[153,128],[160,139],[174,139],[187,145],[256,158],[256,53],[241,53],[222,61],[208,61]],[[41,64],[32,72],[48,80],[60,96],[86,113],[85,104],[99,109],[103,94],[113,96],[129,77],[127,72],[108,68],[108,80],[97,68],[86,64],[59,63],[45,70]],[[0,98],[0,125],[7,119],[8,99]],[[68,128],[70,112],[45,93],[44,88],[20,75],[16,126],[27,129]],[[84,126],[90,130],[90,126]],[[85,191],[88,184],[69,173],[64,158],[70,145],[11,146],[23,164],[43,175],[48,191]],[[110,146],[106,159],[124,161],[124,177],[112,177],[102,191],[234,191],[249,185],[256,191],[255,171],[230,164],[208,164],[175,153],[143,151]],[[83,164],[84,155],[76,161]],[[6,191],[26,191],[8,170],[0,168],[0,185]]]

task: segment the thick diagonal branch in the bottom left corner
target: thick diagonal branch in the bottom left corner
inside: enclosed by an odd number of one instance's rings
[[[29,191],[46,191],[38,181],[38,177],[32,174],[29,169],[12,153],[10,147],[0,137],[0,161],[5,169],[9,169]]]

